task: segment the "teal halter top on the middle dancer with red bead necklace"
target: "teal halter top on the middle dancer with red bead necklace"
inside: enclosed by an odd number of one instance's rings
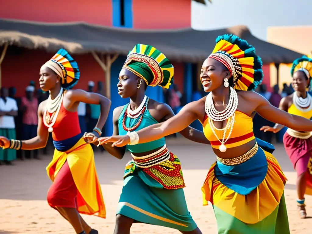
[[[122,120],[124,118],[124,112],[127,108],[128,104],[124,106],[119,118],[118,118],[118,131],[119,135],[125,135],[127,134],[127,131],[124,130],[122,127]],[[140,117],[139,117],[140,118]],[[134,126],[134,124],[138,121],[138,119],[131,119],[128,116],[126,116],[125,125],[129,128]],[[143,129],[145,127],[148,127],[153,124],[158,124],[158,122],[152,117],[152,115],[149,113],[149,110],[146,108],[143,114],[143,119],[139,127],[135,129],[134,131],[139,131],[140,129]],[[153,149],[157,149],[159,147],[163,147],[165,144],[165,138],[161,138],[152,142],[142,143],[142,144],[136,144],[136,145],[127,145],[126,149],[129,150],[131,153],[143,153],[147,152]]]

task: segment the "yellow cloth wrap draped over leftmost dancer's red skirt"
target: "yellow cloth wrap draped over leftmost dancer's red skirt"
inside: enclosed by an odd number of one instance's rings
[[[60,152],[55,149],[52,161],[46,167],[46,172],[52,182],[66,160],[79,191],[77,195],[79,213],[95,214],[105,218],[105,204],[95,169],[91,145],[81,138],[66,152]],[[80,200],[83,201],[83,204],[79,203]]]

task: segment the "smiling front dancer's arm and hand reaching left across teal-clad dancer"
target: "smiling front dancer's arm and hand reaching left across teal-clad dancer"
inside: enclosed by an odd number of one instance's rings
[[[197,105],[198,101],[188,103],[180,112],[163,123],[153,124],[149,127],[139,130],[139,143],[151,142],[162,137],[177,133],[188,127],[194,120],[198,119]],[[102,138],[100,144],[107,142],[114,142],[112,146],[125,146],[130,142],[128,135],[124,136],[111,136]]]

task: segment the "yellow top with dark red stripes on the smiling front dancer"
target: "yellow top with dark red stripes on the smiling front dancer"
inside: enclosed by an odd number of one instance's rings
[[[255,139],[252,128],[253,128],[252,118],[248,116],[247,114],[236,110],[233,130],[232,130],[230,138],[225,143],[225,146],[227,148],[233,148],[236,146],[246,144],[252,139]],[[202,129],[206,138],[210,141],[212,148],[219,149],[219,146],[221,145],[221,143],[213,134],[212,129],[210,128],[210,125],[208,122],[207,115],[205,115],[204,121],[202,123]],[[230,129],[227,130],[225,137],[228,136],[229,131]],[[215,130],[215,133],[217,134],[218,138],[222,141],[223,130],[222,131]]]

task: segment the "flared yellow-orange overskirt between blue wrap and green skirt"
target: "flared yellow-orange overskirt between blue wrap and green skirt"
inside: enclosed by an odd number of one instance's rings
[[[248,224],[269,216],[280,202],[287,179],[274,156],[266,151],[264,153],[268,163],[266,177],[248,195],[238,194],[219,182],[214,175],[214,163],[202,186],[203,205],[212,201],[214,206]]]

